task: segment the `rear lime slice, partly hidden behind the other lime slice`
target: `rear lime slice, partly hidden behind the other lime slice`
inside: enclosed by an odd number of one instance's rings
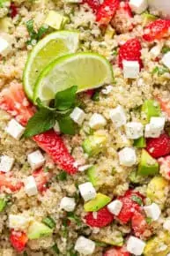
[[[31,100],[33,87],[41,71],[57,57],[74,53],[78,49],[78,37],[77,32],[59,31],[48,34],[33,48],[24,71],[24,88]]]

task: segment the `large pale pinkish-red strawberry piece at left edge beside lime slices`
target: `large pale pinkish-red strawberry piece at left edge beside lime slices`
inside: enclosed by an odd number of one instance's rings
[[[1,92],[0,108],[7,111],[12,117],[15,117],[18,123],[24,126],[34,113],[34,107],[26,99],[22,85],[16,83],[11,83],[9,88],[5,88]]]

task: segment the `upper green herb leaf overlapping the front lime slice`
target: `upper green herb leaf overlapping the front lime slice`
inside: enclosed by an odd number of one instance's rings
[[[76,101],[78,87],[70,87],[55,94],[55,108],[58,110],[70,109]]]

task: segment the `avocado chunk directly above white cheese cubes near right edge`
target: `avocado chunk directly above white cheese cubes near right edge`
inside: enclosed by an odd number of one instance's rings
[[[150,122],[151,117],[160,116],[159,102],[153,100],[146,100],[141,109],[141,117],[144,124]]]

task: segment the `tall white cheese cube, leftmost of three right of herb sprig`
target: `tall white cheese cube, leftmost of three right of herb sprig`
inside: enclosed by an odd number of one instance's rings
[[[122,106],[118,106],[115,109],[110,110],[110,118],[112,122],[115,124],[116,128],[121,127],[122,125],[126,124],[126,115]]]

